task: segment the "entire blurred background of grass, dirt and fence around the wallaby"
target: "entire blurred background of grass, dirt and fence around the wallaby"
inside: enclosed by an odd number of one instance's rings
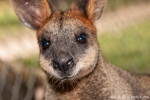
[[[49,0],[65,11],[76,0]],[[95,23],[104,58],[131,73],[150,74],[150,0],[108,0]],[[0,0],[0,100],[42,100],[45,74],[39,67],[36,32],[19,22]]]

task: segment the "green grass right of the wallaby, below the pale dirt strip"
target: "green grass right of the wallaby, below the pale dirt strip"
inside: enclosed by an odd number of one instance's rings
[[[150,73],[150,20],[98,40],[107,61],[130,72]]]

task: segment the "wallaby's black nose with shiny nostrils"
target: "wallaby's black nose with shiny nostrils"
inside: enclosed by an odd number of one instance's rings
[[[54,69],[66,73],[67,70],[74,66],[74,61],[72,56],[69,54],[61,54],[53,60]]]

